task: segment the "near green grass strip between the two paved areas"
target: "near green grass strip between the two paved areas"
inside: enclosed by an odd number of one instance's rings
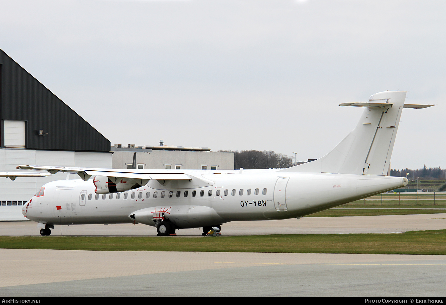
[[[0,247],[96,251],[205,251],[446,255],[446,230],[402,234],[230,237],[0,237]]]

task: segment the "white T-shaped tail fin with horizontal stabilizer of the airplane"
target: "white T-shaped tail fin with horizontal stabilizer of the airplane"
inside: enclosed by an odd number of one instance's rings
[[[405,91],[384,91],[367,103],[340,104],[365,108],[356,128],[324,157],[281,171],[387,176],[403,108],[433,106],[405,105],[405,97]]]

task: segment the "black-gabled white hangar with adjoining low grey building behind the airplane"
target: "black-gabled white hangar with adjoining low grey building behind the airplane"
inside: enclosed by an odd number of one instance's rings
[[[17,165],[143,169],[234,169],[225,152],[111,148],[110,141],[0,49],[0,171]],[[71,175],[74,178],[74,175]],[[24,205],[49,177],[0,180],[0,221],[25,220]]]

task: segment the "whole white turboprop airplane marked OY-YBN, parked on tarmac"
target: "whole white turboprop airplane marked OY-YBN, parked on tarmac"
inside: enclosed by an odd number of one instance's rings
[[[21,165],[17,169],[77,173],[53,181],[23,206],[41,235],[54,225],[143,223],[158,235],[238,220],[300,218],[408,184],[389,177],[405,91],[385,91],[365,103],[356,128],[326,156],[287,169],[88,169]]]

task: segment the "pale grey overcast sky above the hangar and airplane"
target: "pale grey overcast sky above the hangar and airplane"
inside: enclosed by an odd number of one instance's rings
[[[392,168],[446,168],[446,1],[0,0],[0,49],[111,144],[329,152],[408,91]]]

